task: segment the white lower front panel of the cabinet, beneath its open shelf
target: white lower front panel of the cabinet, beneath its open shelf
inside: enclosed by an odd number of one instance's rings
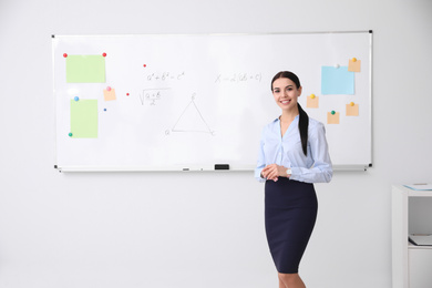
[[[432,249],[409,250],[410,288],[432,287]]]

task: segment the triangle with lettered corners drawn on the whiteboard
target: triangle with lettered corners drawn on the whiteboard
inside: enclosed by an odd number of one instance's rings
[[[182,115],[173,126],[173,132],[202,132],[213,135],[214,131],[210,130],[207,122],[204,120],[199,112],[198,106],[195,104],[194,97],[183,111]]]

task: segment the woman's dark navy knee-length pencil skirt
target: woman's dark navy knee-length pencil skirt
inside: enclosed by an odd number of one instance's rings
[[[267,241],[276,269],[296,274],[317,219],[313,184],[279,177],[266,182]]]

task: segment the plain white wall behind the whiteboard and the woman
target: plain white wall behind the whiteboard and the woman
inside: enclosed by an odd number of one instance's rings
[[[431,12],[429,0],[0,0],[0,288],[277,287],[251,173],[53,168],[51,34],[368,29],[373,167],[316,186],[300,272],[310,288],[391,287],[390,185],[432,182]]]

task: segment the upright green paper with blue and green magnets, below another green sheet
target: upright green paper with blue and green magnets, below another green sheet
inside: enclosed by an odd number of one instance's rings
[[[71,100],[72,138],[97,138],[97,100]]]

